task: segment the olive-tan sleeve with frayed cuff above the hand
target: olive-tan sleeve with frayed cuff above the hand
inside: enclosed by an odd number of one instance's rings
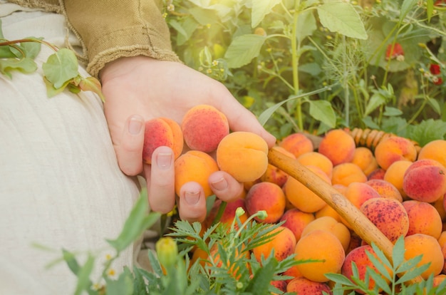
[[[68,26],[78,35],[97,77],[105,63],[120,57],[149,56],[179,61],[157,0],[60,0]]]

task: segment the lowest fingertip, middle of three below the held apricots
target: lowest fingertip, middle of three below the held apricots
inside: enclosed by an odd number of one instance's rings
[[[206,197],[198,182],[187,182],[181,187],[178,213],[189,222],[203,222],[206,218]]]

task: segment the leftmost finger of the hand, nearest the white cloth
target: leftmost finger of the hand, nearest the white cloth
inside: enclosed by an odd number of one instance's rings
[[[118,165],[126,175],[142,172],[142,146],[144,145],[144,119],[133,115],[125,122],[123,135],[115,145]]]

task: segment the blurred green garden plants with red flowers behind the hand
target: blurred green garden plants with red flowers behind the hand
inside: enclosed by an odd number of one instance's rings
[[[446,2],[165,0],[174,49],[277,138],[373,128],[445,138]]]

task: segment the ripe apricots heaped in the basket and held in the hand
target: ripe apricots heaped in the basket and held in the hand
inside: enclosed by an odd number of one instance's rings
[[[280,234],[252,251],[259,262],[272,249],[279,260],[291,254],[298,260],[318,259],[291,267],[284,275],[294,279],[274,282],[276,287],[299,294],[330,293],[333,283],[325,274],[351,276],[351,262],[356,262],[364,277],[366,267],[373,267],[365,254],[373,253],[370,245],[320,197],[270,165],[268,147],[258,135],[230,132],[224,115],[208,105],[192,108],[180,128],[173,129],[182,132],[177,136],[181,150],[183,144],[191,149],[179,152],[175,161],[178,187],[197,181],[205,188],[210,173],[224,170],[244,183],[244,192],[227,204],[220,222],[232,223],[237,207],[245,210],[242,221],[265,210],[268,217],[256,222],[284,222]],[[175,132],[170,135],[172,143]],[[392,136],[370,150],[357,146],[346,130],[335,129],[323,135],[317,148],[303,133],[279,140],[274,148],[336,188],[390,242],[404,237],[405,259],[422,255],[420,265],[430,263],[422,278],[433,275],[437,282],[446,278],[446,140],[417,149],[411,140]],[[204,227],[212,224],[214,216],[209,214]]]

